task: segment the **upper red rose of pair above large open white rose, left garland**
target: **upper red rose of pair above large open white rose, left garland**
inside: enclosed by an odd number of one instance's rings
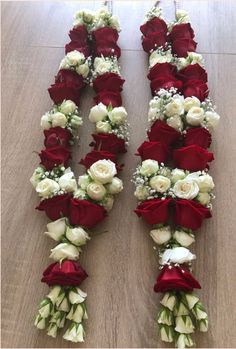
[[[104,150],[112,154],[126,153],[125,141],[112,133],[97,133],[92,135],[94,142],[90,146],[95,150]]]

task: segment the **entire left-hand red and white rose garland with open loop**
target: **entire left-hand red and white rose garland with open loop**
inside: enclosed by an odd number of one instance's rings
[[[118,19],[106,8],[76,13],[66,56],[55,84],[48,89],[54,104],[41,118],[45,149],[31,177],[41,199],[37,209],[52,220],[45,234],[58,243],[50,254],[54,263],[43,272],[42,282],[51,290],[39,305],[35,325],[56,337],[69,320],[63,338],[72,342],[84,341],[83,320],[88,317],[87,295],[79,288],[88,276],[78,262],[81,246],[90,239],[88,230],[106,217],[114,195],[123,189],[116,177],[120,170],[117,155],[126,152],[128,130],[127,113],[121,106],[124,80],[117,61],[118,31]],[[80,162],[86,173],[77,182],[69,161],[76,130],[82,125],[80,95],[88,83],[97,93],[89,114],[96,132],[93,150]]]

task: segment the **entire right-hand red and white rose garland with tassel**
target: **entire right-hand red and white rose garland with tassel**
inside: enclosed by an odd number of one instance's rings
[[[167,25],[154,7],[140,29],[153,99],[148,141],[137,151],[142,163],[133,177],[135,212],[152,225],[150,235],[159,245],[161,272],[154,291],[164,294],[157,316],[161,339],[184,348],[194,344],[196,329],[208,329],[207,313],[193,293],[201,286],[191,275],[196,256],[188,247],[194,231],[211,217],[214,182],[208,163],[214,157],[207,148],[220,117],[208,98],[207,73],[195,53],[187,13],[177,11],[176,21]]]

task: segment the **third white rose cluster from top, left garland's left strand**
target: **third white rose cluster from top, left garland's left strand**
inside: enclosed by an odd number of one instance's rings
[[[77,129],[83,124],[76,104],[71,100],[64,100],[54,105],[53,108],[41,118],[41,127],[49,130],[51,127],[67,128],[69,131]]]

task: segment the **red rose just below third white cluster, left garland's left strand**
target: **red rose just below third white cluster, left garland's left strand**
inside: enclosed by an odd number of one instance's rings
[[[72,134],[66,128],[59,126],[51,127],[49,130],[44,130],[43,133],[45,136],[44,145],[46,148],[55,147],[57,145],[62,145],[64,147],[70,146]]]

